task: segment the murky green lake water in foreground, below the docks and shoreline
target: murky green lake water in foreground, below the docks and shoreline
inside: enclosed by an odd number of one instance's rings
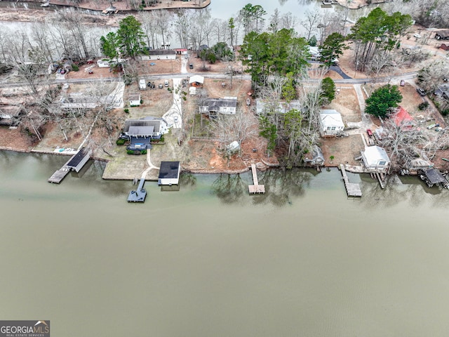
[[[52,336],[447,336],[449,191],[340,172],[182,176],[179,192],[0,151],[0,317]]]

